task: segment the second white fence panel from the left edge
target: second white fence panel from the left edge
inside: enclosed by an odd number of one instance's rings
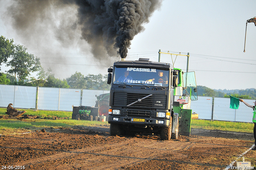
[[[36,87],[15,86],[15,108],[36,108]]]

